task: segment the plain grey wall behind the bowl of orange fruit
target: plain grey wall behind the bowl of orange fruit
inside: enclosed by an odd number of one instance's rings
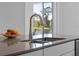
[[[24,24],[24,2],[0,2],[0,33],[13,28],[25,34]]]

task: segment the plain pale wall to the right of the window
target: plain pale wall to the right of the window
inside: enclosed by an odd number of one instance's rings
[[[57,35],[79,35],[79,2],[57,2]]]

